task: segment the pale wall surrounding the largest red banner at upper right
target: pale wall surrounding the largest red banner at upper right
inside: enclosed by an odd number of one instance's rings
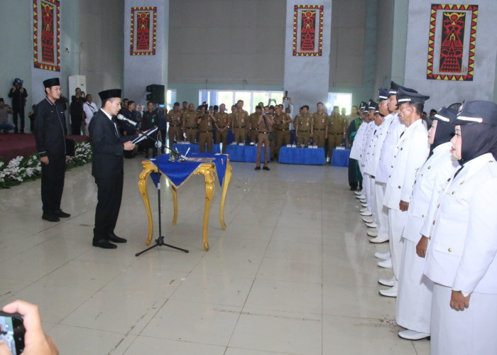
[[[405,57],[405,86],[430,95],[425,111],[462,100],[492,100],[496,70],[497,1],[453,1],[451,4],[479,5],[476,25],[474,79],[471,82],[427,80],[427,50],[431,0],[409,2],[408,40]]]

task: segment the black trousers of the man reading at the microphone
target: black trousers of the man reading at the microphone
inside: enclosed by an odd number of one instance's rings
[[[95,227],[93,229],[95,240],[107,239],[109,234],[114,233],[121,208],[123,179],[123,175],[114,178],[95,178],[98,188]]]

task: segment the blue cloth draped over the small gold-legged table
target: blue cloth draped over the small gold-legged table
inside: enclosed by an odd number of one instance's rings
[[[209,154],[209,153],[193,153],[189,158],[214,158],[216,165],[217,180],[219,185],[222,185],[224,174],[226,173],[226,162],[228,157],[224,154]],[[169,161],[169,154],[160,155],[160,162],[157,163],[157,158],[150,159],[152,163],[158,166],[159,170],[173,182],[176,187],[180,186],[192,173],[198,168],[202,162],[197,161]],[[160,175],[151,173],[151,178],[157,185]]]

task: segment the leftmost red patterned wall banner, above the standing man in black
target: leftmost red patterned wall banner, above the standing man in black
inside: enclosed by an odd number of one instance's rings
[[[33,0],[34,65],[60,72],[60,3]]]

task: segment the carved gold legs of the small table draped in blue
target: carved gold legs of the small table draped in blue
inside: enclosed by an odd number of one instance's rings
[[[153,236],[153,219],[152,211],[150,207],[150,200],[148,200],[148,190],[147,190],[147,180],[151,173],[158,173],[158,167],[149,160],[143,160],[143,171],[140,173],[140,180],[138,181],[138,190],[140,190],[141,197],[143,197],[143,203],[145,204],[145,209],[148,217],[148,238],[145,242],[146,245],[150,245]],[[202,226],[202,241],[204,243],[204,249],[209,250],[209,243],[207,241],[207,226],[209,224],[209,211],[212,196],[214,196],[214,171],[216,166],[214,163],[202,163],[199,167],[192,173],[192,175],[204,175],[205,180],[205,207],[204,207],[204,224]],[[164,174],[163,174],[164,175]],[[226,223],[224,223],[224,201],[226,200],[226,192],[228,190],[229,181],[231,180],[231,165],[229,160],[226,161],[226,173],[224,174],[223,180],[223,194],[221,197],[221,206],[219,207],[219,222],[221,223],[221,228],[226,229]],[[176,224],[178,220],[178,192],[177,187],[173,186],[173,224]]]

